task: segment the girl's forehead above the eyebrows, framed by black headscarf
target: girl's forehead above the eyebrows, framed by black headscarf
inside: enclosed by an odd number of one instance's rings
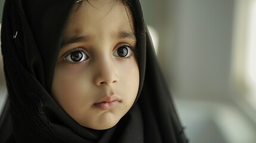
[[[66,32],[87,34],[95,30],[115,29],[134,31],[131,9],[119,0],[82,1],[73,8],[67,23]]]

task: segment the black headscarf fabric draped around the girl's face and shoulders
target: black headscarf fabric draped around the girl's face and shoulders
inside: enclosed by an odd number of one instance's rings
[[[113,128],[79,125],[51,97],[67,19],[76,0],[7,0],[1,42],[8,101],[0,142],[187,142],[156,61],[138,0],[134,14],[140,86],[132,108]]]

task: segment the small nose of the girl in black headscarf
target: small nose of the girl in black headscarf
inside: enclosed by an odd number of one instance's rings
[[[117,83],[119,77],[116,71],[117,67],[115,66],[115,63],[111,58],[100,58],[95,63],[95,85],[100,86]]]

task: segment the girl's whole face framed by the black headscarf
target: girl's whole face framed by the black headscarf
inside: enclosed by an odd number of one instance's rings
[[[53,97],[80,125],[112,128],[137,96],[135,46],[131,11],[121,1],[76,4],[55,66]]]

